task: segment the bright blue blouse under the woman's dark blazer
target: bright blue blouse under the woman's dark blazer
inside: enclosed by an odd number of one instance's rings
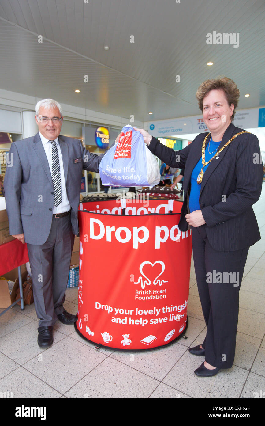
[[[209,144],[207,145],[207,147],[205,148],[205,163],[207,163],[207,161],[211,160],[211,158],[217,153],[217,148],[219,147],[221,141],[220,142],[214,142],[212,141],[212,139],[210,139]],[[209,154],[209,150],[208,150],[208,146],[210,153]],[[215,151],[214,151],[215,149]],[[214,151],[214,152],[213,152]],[[207,164],[207,166],[203,167],[203,172],[205,173],[205,170],[207,169],[209,164]],[[197,177],[199,175],[199,172],[202,170],[202,157],[199,159],[199,161],[197,162],[196,166],[193,169],[193,172],[191,173],[191,193],[190,193],[190,198],[189,198],[189,209],[190,212],[194,212],[194,210],[201,210],[201,207],[199,205],[199,193],[201,190],[201,184],[197,184]],[[203,179],[203,178],[202,178]]]

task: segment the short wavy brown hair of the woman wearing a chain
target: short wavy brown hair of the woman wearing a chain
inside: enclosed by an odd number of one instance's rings
[[[199,102],[199,109],[203,111],[202,102],[206,95],[208,95],[211,90],[222,90],[225,94],[225,98],[228,101],[228,105],[234,104],[234,111],[231,116],[231,121],[234,120],[234,115],[236,112],[238,100],[239,100],[239,89],[237,88],[236,83],[227,77],[217,77],[210,80],[205,80],[199,85],[199,89],[196,92],[196,98]]]

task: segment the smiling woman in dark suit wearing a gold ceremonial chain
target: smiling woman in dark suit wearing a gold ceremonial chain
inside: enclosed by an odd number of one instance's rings
[[[192,228],[194,267],[207,325],[204,342],[189,351],[205,357],[195,374],[214,376],[234,362],[239,288],[249,246],[260,239],[252,209],[261,194],[262,164],[255,135],[232,124],[239,90],[229,78],[204,81],[197,100],[210,133],[180,151],[139,130],[150,151],[185,167],[179,228]]]

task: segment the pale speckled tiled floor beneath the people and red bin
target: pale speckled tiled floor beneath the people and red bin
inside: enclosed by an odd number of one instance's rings
[[[265,391],[265,182],[254,205],[262,239],[250,248],[239,292],[234,366],[199,378],[202,362],[188,347],[202,343],[206,328],[193,262],[188,302],[188,339],[164,349],[123,352],[83,340],[59,321],[54,344],[37,345],[34,305],[16,305],[0,317],[0,391],[14,398],[253,398]],[[67,289],[64,306],[77,312],[77,288]]]

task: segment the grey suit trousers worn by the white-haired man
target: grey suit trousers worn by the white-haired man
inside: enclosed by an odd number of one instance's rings
[[[63,302],[74,246],[70,217],[53,216],[46,242],[42,245],[27,244],[39,327],[53,326],[57,314],[64,311]]]

